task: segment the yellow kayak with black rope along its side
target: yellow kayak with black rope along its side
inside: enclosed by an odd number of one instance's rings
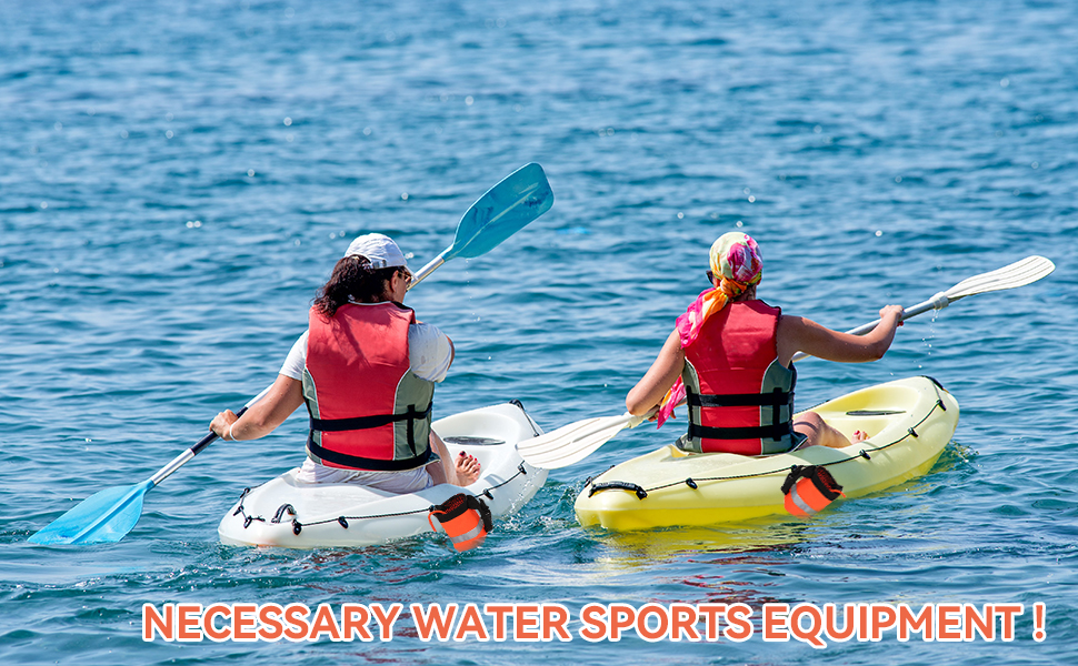
[[[822,508],[806,506],[816,488],[840,502],[927,473],[958,425],[958,403],[930,377],[870,386],[812,411],[847,437],[858,430],[869,437],[845,448],[769,456],[690,454],[667,445],[589,480],[577,497],[577,518],[628,531],[807,515]]]

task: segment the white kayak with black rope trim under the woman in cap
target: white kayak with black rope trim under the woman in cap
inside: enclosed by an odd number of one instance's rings
[[[302,483],[296,467],[243,491],[218,527],[221,543],[287,548],[381,544],[432,532],[430,508],[461,492],[482,500],[497,521],[523,506],[547,480],[546,470],[517,453],[517,442],[542,434],[517,401],[447,416],[433,427],[451,455],[463,451],[479,460],[476,483],[399,495],[357,484]]]

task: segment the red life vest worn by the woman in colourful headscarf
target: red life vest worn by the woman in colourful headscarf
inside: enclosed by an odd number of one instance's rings
[[[793,447],[797,372],[778,362],[781,311],[763,301],[729,303],[685,349],[689,432],[678,446],[697,453],[783,453]]]

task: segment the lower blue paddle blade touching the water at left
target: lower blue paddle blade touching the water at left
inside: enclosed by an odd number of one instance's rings
[[[153,487],[146,480],[94,493],[32,535],[31,544],[112,544],[123,538],[142,515],[142,496]]]

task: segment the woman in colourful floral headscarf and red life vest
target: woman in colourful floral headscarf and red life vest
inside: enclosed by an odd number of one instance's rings
[[[847,446],[849,440],[817,414],[793,420],[793,354],[847,363],[880,359],[901,325],[901,306],[880,310],[879,325],[866,335],[831,331],[757,300],[763,260],[747,234],[721,235],[710,254],[711,289],[678,317],[659,356],[626,396],[629,412],[658,408],[661,427],[685,401],[689,428],[678,446],[696,453]],[[864,435],[855,433],[859,438]]]

